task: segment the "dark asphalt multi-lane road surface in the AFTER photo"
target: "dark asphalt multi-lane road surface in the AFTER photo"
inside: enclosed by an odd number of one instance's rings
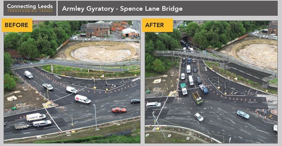
[[[183,60],[182,60],[183,61]],[[184,61],[187,61],[184,60]],[[269,100],[265,93],[229,81],[208,68],[202,61],[188,64],[191,68],[197,67],[197,72],[186,73],[186,66],[180,68],[180,73],[185,73],[185,80],[179,77],[179,97],[150,97],[148,102],[158,101],[162,107],[156,109],[145,108],[145,125],[154,124],[153,111],[160,125],[174,125],[205,133],[224,143],[277,143],[277,132],[273,131],[273,125],[277,124],[277,116],[269,118],[267,114],[257,109],[268,110]],[[192,75],[194,85],[189,85],[188,76]],[[209,93],[204,94],[199,88],[196,77],[200,77],[208,87]],[[220,83],[218,83],[218,81]],[[186,82],[188,95],[183,96],[180,83]],[[227,95],[223,90],[226,87]],[[203,98],[201,105],[195,104],[192,93],[198,91]],[[277,109],[277,104],[275,105]],[[274,107],[275,107],[274,106]],[[273,105],[271,105],[273,107]],[[244,119],[236,115],[241,110],[250,115]],[[255,113],[256,112],[256,113]],[[204,117],[203,122],[195,119],[194,114],[199,113]]]

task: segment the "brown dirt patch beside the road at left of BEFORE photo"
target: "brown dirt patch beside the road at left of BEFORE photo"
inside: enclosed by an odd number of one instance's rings
[[[35,92],[30,86],[18,82],[15,91],[4,95],[4,116],[42,109],[42,103],[45,103],[45,100]],[[15,105],[18,109],[15,111],[11,110],[15,106],[12,100],[13,96],[17,98],[15,99]]]

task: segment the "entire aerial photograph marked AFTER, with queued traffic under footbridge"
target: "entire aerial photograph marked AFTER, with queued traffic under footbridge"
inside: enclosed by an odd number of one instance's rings
[[[145,143],[278,143],[278,21],[145,33]]]

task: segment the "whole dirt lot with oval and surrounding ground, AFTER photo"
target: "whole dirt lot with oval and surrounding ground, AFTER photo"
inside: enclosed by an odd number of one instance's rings
[[[217,51],[246,63],[277,69],[277,41],[247,36]]]

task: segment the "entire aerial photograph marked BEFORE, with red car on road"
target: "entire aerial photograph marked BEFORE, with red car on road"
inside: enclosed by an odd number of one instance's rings
[[[140,21],[4,32],[4,143],[140,144]]]

